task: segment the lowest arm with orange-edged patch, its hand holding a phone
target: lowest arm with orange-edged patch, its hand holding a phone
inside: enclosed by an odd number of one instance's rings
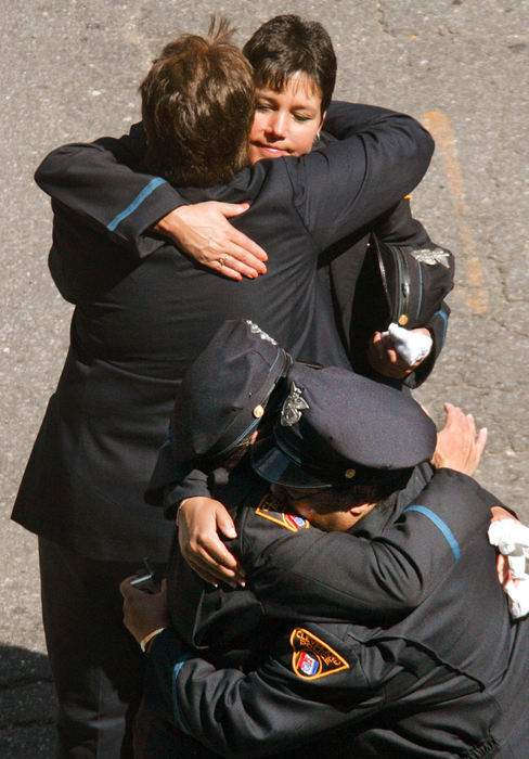
[[[285,629],[249,674],[216,670],[168,627],[165,584],[149,595],[132,579],[120,591],[125,625],[149,655],[145,707],[223,756],[267,756],[365,718],[384,705],[380,685],[400,671],[376,651],[360,664],[362,647],[344,638],[343,626],[311,625]],[[318,654],[324,677],[311,678]]]

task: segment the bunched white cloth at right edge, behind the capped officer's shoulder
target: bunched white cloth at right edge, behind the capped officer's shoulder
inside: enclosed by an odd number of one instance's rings
[[[529,614],[529,527],[517,519],[500,519],[489,527],[489,542],[508,557],[512,579],[503,587],[515,619]]]

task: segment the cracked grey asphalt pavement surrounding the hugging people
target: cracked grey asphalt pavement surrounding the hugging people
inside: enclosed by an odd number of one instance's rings
[[[418,394],[437,420],[450,400],[489,428],[478,478],[529,520],[525,459],[529,217],[528,0],[12,0],[2,9],[3,222],[0,283],[2,530],[0,756],[53,756],[53,695],[38,597],[36,541],[9,522],[23,467],[68,340],[70,307],[48,275],[51,224],[33,172],[52,147],[118,134],[137,86],[171,36],[204,31],[210,11],[240,26],[296,12],[331,33],[337,97],[407,111],[436,137],[413,205],[456,256],[441,361]]]

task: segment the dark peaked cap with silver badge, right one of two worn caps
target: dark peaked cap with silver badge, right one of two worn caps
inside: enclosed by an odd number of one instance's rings
[[[436,426],[418,403],[347,370],[295,364],[273,433],[251,450],[264,479],[298,488],[398,480],[431,459]]]

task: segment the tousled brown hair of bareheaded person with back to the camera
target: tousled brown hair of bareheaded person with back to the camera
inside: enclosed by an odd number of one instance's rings
[[[140,86],[150,167],[181,185],[230,181],[248,163],[253,70],[227,20],[215,26],[167,44]]]

